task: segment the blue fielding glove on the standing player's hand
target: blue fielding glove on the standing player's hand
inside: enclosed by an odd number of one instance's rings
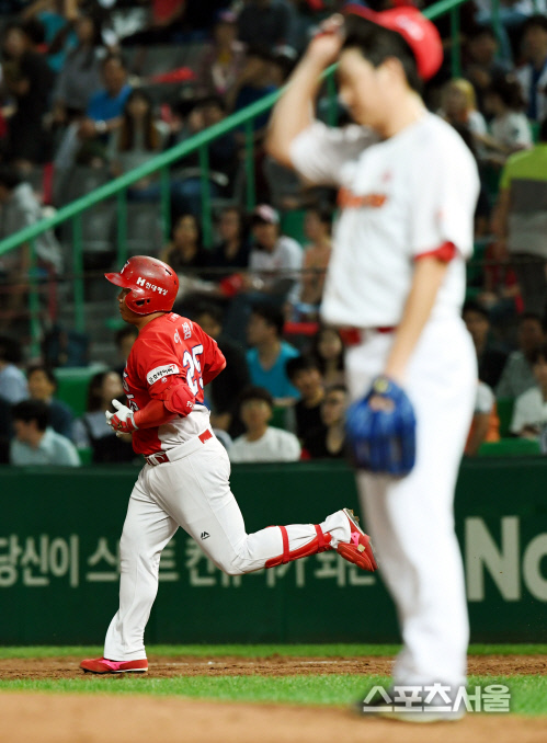
[[[372,397],[390,401],[390,409],[373,410]],[[376,377],[366,397],[350,405],[345,430],[358,469],[403,476],[414,466],[414,409],[404,390],[388,377]]]

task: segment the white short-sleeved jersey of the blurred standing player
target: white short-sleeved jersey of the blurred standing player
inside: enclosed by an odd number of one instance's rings
[[[397,325],[414,259],[445,243],[457,251],[432,317],[459,315],[479,176],[448,124],[425,114],[380,141],[364,127],[332,129],[315,122],[293,141],[290,157],[307,181],[340,187],[342,210],[321,307],[327,322]]]

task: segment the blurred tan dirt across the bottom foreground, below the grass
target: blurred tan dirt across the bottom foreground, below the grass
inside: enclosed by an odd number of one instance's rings
[[[417,725],[363,720],[333,708],[80,694],[0,696],[5,743],[545,743],[545,719],[469,715]]]

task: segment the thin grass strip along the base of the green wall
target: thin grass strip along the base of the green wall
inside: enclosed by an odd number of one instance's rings
[[[225,645],[147,645],[149,655],[240,655],[241,658],[267,658],[269,655],[355,658],[358,655],[395,655],[399,645],[386,644],[225,644]],[[62,658],[78,655],[93,658],[102,654],[102,645],[29,645],[0,648],[0,659],[4,658]],[[547,644],[475,644],[469,648],[470,655],[546,655]]]

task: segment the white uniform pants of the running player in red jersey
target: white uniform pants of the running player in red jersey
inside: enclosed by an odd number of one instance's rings
[[[264,568],[283,555],[278,528],[248,535],[241,511],[230,491],[230,461],[216,437],[197,437],[183,445],[182,458],[140,471],[132,492],[122,534],[119,610],[104,644],[104,658],[134,661],[146,658],[144,633],[158,592],[160,556],[179,526],[190,534],[213,562],[230,575]],[[181,447],[182,448],[182,447]],[[320,525],[331,545],[350,541],[350,524],[342,512]],[[311,524],[287,526],[289,551],[312,541]],[[209,536],[202,540],[206,531]]]

